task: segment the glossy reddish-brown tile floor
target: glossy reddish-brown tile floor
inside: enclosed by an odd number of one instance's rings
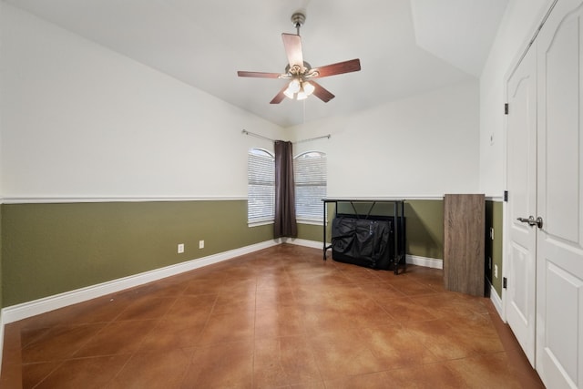
[[[8,324],[0,386],[544,387],[489,299],[442,285],[284,244]]]

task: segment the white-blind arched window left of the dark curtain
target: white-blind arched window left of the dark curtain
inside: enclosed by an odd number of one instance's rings
[[[274,219],[275,159],[262,148],[249,150],[247,218],[250,224]]]

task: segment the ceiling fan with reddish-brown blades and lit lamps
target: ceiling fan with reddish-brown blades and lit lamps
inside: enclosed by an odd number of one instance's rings
[[[280,92],[271,99],[270,104],[280,104],[285,97],[303,100],[312,94],[327,103],[334,98],[334,95],[315,82],[314,78],[357,72],[361,69],[361,61],[358,58],[323,67],[311,67],[309,63],[305,62],[302,55],[302,38],[300,36],[300,27],[303,26],[305,20],[306,16],[302,12],[296,12],[292,15],[292,23],[297,30],[297,34],[281,34],[285,53],[288,57],[288,65],[285,67],[284,73],[237,72],[239,77],[289,79],[290,82],[281,88]]]

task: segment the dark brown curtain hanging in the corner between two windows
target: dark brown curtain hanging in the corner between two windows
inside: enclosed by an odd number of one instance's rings
[[[273,237],[298,236],[295,220],[292,142],[275,141],[275,223]]]

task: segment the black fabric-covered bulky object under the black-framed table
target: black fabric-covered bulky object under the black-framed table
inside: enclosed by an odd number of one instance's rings
[[[399,230],[399,233],[402,231]],[[401,246],[399,241],[398,252],[402,252]],[[332,220],[334,261],[393,270],[394,256],[394,217],[359,219],[338,215]]]

